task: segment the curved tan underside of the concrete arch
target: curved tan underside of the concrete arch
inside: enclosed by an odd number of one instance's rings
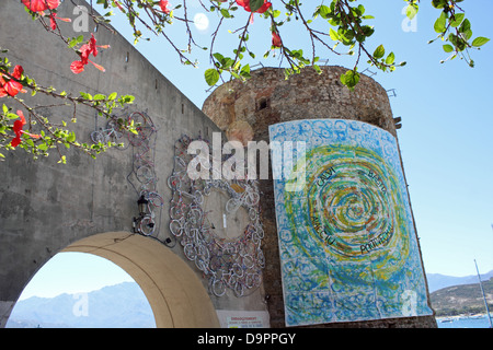
[[[194,271],[148,237],[108,232],[80,240],[62,252],[94,254],[124,269],[146,294],[158,328],[219,327],[213,303]]]

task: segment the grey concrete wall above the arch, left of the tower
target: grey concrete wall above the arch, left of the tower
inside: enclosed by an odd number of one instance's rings
[[[74,2],[89,8],[83,1]],[[65,1],[58,15],[74,19],[72,11],[71,1]],[[71,33],[70,23],[59,22],[59,25],[66,36],[90,37],[89,32]],[[94,27],[90,23],[91,32]],[[110,49],[100,49],[94,58],[106,72],[88,65],[84,72],[76,75],[70,71],[70,63],[79,57],[72,50],[32,21],[19,0],[0,1],[0,46],[9,49],[13,65],[22,65],[25,73],[38,84],[53,85],[58,92],[65,90],[76,96],[80,91],[93,95],[130,94],[136,97],[130,110],[147,110],[152,118],[159,129],[154,164],[159,177],[157,189],[164,198],[157,238],[163,241],[170,236],[167,178],[172,172],[174,142],[183,133],[207,138],[219,129],[124,37],[102,26],[95,36],[98,44],[111,45]],[[31,105],[60,103],[39,94],[22,97]],[[12,100],[5,103],[12,106]],[[44,113],[54,122],[64,119],[70,124],[73,109],[45,108]],[[91,142],[90,132],[96,125],[106,124],[104,118],[96,118],[92,109],[83,107],[77,108],[77,118],[73,128],[81,142]],[[49,258],[94,234],[131,232],[133,218],[138,214],[138,195],[127,180],[133,166],[131,147],[126,151],[110,150],[95,161],[73,148],[62,149],[67,165],[57,164],[59,156],[55,150],[48,159],[37,161],[23,150],[3,152],[7,159],[0,163],[0,326],[5,324],[30,279]],[[156,244],[161,243],[156,241]],[[180,245],[172,250],[183,258]],[[194,271],[202,280],[202,273]],[[213,302],[218,308],[218,302]],[[251,308],[252,304],[249,300],[238,304],[227,296],[220,303],[226,310]]]

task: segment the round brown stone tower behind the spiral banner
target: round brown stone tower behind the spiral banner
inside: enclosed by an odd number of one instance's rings
[[[234,80],[217,88],[205,101],[203,112],[226,131],[230,140],[236,139],[243,144],[251,140],[268,142],[268,126],[301,119],[358,120],[390,132],[397,141],[397,129],[400,125],[392,116],[386,90],[372,79],[362,74],[359,84],[354,92],[351,92],[340,82],[340,75],[345,71],[346,69],[342,67],[323,67],[322,73],[318,74],[311,69],[306,69],[300,74],[286,80],[284,69],[262,68],[253,71],[252,78],[246,82]],[[400,166],[402,167],[402,163]],[[266,302],[271,326],[284,327],[286,326],[285,301],[283,300],[273,180],[261,179],[260,189],[265,232],[263,249],[266,258],[264,270]],[[415,232],[413,220],[412,225]],[[424,271],[419,245],[417,249],[420,267]],[[424,288],[429,305],[427,287]],[[436,327],[436,322],[433,315],[425,315],[326,323],[318,326]]]

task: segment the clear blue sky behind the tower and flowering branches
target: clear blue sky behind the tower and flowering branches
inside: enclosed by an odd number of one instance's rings
[[[272,2],[276,4],[278,1]],[[372,78],[386,90],[394,89],[397,93],[390,97],[390,103],[394,116],[401,116],[403,120],[398,137],[425,270],[450,276],[473,275],[474,259],[481,272],[493,270],[493,96],[490,85],[493,81],[493,42],[481,51],[473,51],[474,69],[459,59],[440,65],[439,61],[447,57],[442,43],[427,44],[436,37],[433,23],[439,14],[429,1],[422,1],[415,32],[402,30],[405,20],[403,1],[360,2],[367,8],[367,14],[376,18],[371,21],[376,34],[369,40],[368,49],[372,51],[383,44],[388,52],[392,50],[395,54],[397,61],[408,62],[393,73],[378,72]],[[493,2],[468,0],[462,4],[471,20],[473,37],[493,38],[489,18]],[[195,2],[188,4],[188,10],[192,15],[205,12]],[[242,21],[240,25],[246,20],[246,14],[241,12],[238,12]],[[208,14],[211,20],[215,15]],[[259,54],[250,61],[251,66],[262,61],[263,52],[271,45],[268,23],[264,22],[256,15],[251,25],[249,45],[257,48]],[[122,23],[115,20],[113,25],[131,42],[128,27]],[[280,30],[283,39],[290,47],[309,50],[310,45],[306,37],[299,35],[299,30]],[[174,31],[180,32],[180,28]],[[197,40],[208,46],[211,32],[211,27],[196,31]],[[222,38],[216,44],[217,50],[231,52],[238,45],[232,40],[234,36],[225,33]],[[209,68],[207,51],[195,49],[200,62],[196,69],[180,65],[176,54],[163,39],[152,38],[138,44],[137,48],[197,107],[202,107],[209,94],[204,80],[204,71]],[[354,58],[346,56],[323,51],[319,56],[329,58],[329,65],[348,68],[354,65]],[[277,60],[263,63],[278,66]],[[366,63],[360,65],[359,71],[365,68]],[[375,68],[369,69],[377,72]],[[69,258],[69,255],[57,257],[65,265],[70,264]],[[85,257],[73,257],[72,267],[87,264],[80,260],[82,258]],[[46,267],[54,269],[51,275],[61,273],[55,266],[57,259],[49,262],[54,267]],[[99,259],[94,260],[94,271],[105,269],[98,266]],[[122,280],[128,278],[115,270],[107,273],[117,275]],[[47,277],[42,280],[47,280]],[[108,284],[112,283],[113,280]]]

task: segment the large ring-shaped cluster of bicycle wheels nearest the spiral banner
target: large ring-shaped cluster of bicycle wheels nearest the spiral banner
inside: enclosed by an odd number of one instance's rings
[[[193,260],[209,281],[209,290],[216,296],[225,295],[230,290],[236,296],[243,296],[260,287],[265,260],[261,249],[264,236],[259,215],[259,189],[254,180],[213,179],[192,180],[187,166],[195,155],[187,153],[194,141],[183,136],[175,143],[173,172],[168,178],[172,190],[170,202],[170,232],[183,246],[184,255]],[[203,141],[208,150],[208,142]],[[210,163],[211,164],[211,163]],[[236,237],[218,235],[216,222],[211,223],[205,208],[205,198],[214,191],[229,197],[221,208],[222,214],[230,214],[239,208],[248,213],[248,224]],[[226,218],[226,217],[223,217]],[[226,220],[226,219],[225,219]],[[215,226],[216,225],[216,226]]]

